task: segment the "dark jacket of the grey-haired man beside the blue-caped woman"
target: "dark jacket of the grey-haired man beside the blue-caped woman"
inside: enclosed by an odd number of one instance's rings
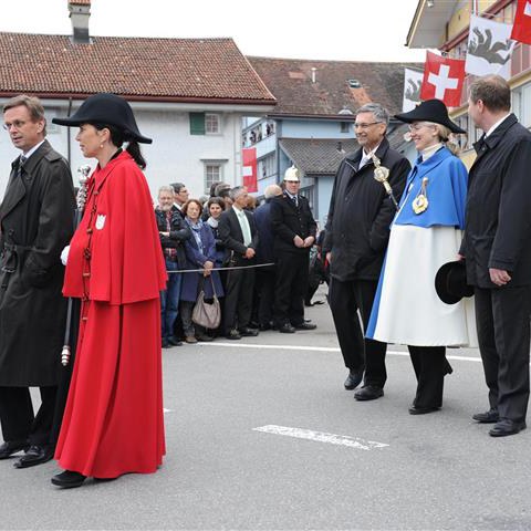
[[[330,274],[342,282],[378,279],[396,214],[384,186],[374,179],[374,164],[357,169],[362,155],[363,148],[341,163],[330,199],[323,250],[332,251]],[[399,200],[409,162],[392,149],[386,138],[375,155],[389,169],[388,181]]]

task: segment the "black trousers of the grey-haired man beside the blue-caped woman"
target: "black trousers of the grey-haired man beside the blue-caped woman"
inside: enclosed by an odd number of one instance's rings
[[[383,388],[387,379],[385,369],[387,344],[365,339],[364,333],[377,285],[376,280],[342,282],[332,278],[329,304],[345,366],[351,371],[360,371],[365,367],[364,384]],[[363,327],[357,311],[360,311]]]

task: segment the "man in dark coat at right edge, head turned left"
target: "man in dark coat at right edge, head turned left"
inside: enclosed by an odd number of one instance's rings
[[[470,86],[468,112],[485,134],[475,144],[460,254],[475,287],[476,322],[492,437],[525,428],[531,313],[531,133],[510,113],[500,76]]]

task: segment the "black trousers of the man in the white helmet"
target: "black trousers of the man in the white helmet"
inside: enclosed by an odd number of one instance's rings
[[[308,289],[310,251],[285,252],[277,257],[274,322],[277,326],[304,322],[304,295]]]

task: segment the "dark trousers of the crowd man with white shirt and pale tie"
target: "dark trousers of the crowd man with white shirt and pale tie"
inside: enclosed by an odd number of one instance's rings
[[[252,260],[238,260],[236,266],[252,266]],[[223,329],[228,334],[232,329],[249,326],[254,291],[254,269],[227,271],[225,285]]]

